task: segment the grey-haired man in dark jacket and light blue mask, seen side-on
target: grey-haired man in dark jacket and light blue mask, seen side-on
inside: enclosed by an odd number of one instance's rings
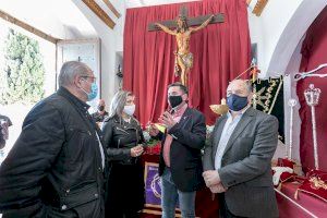
[[[0,168],[3,218],[105,217],[107,158],[86,104],[97,96],[96,77],[86,64],[69,61],[59,86],[26,116]]]

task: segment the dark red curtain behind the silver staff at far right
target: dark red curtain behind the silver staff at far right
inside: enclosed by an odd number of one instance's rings
[[[311,71],[323,63],[327,63],[327,8],[325,8],[318,17],[314,21],[306,32],[305,39],[302,45],[302,60],[300,72]],[[316,73],[327,73],[327,68],[317,71]],[[312,120],[311,109],[305,102],[304,90],[310,84],[320,88],[320,100],[316,107],[316,123],[317,123],[317,142],[319,154],[319,167],[327,171],[327,77],[306,77],[298,82],[296,93],[299,96],[301,109],[300,117],[301,136],[300,136],[300,156],[304,170],[314,168],[314,152],[312,136]]]

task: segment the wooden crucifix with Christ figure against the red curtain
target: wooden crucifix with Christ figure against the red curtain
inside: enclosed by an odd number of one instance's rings
[[[182,7],[175,21],[162,21],[148,25],[148,31],[150,32],[164,31],[175,36],[178,48],[174,51],[174,74],[180,76],[183,85],[187,86],[187,74],[193,66],[193,53],[190,52],[191,34],[206,27],[208,24],[223,23],[223,14],[221,13],[187,17],[187,8]]]

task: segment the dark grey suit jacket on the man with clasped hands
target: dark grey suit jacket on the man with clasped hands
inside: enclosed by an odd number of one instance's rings
[[[204,170],[215,169],[215,156],[227,116],[215,124],[205,148]],[[249,108],[226,146],[218,169],[228,209],[242,217],[278,217],[271,178],[271,158],[278,142],[278,120]]]

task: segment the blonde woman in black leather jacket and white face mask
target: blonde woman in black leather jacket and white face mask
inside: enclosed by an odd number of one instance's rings
[[[144,206],[143,154],[144,137],[133,117],[135,96],[118,92],[102,125],[104,142],[111,161],[107,183],[106,217],[135,218]]]

